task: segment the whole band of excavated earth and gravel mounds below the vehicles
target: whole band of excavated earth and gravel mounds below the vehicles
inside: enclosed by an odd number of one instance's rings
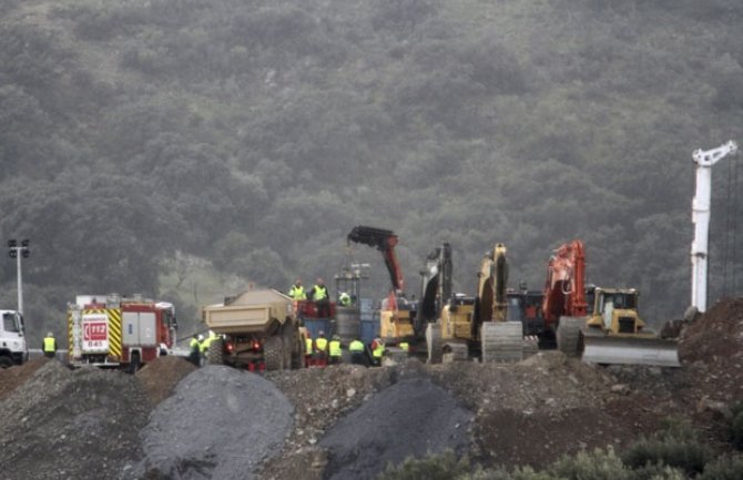
[[[163,357],[135,376],[35,359],[0,370],[2,479],[373,479],[408,455],[543,467],[669,416],[712,445],[743,399],[743,298],[684,326],[682,368],[340,365],[257,376]]]

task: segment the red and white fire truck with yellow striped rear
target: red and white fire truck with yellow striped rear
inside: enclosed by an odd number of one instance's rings
[[[173,305],[141,295],[78,295],[68,306],[69,362],[135,372],[175,346]]]

